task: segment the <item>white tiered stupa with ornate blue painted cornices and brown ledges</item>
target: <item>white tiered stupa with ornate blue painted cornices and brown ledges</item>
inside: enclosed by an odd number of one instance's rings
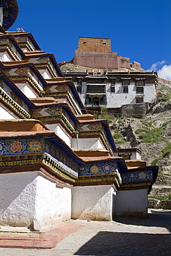
[[[17,1],[0,10],[0,225],[145,216],[158,167],[118,156],[108,122],[87,113],[54,55],[30,33],[6,31]]]

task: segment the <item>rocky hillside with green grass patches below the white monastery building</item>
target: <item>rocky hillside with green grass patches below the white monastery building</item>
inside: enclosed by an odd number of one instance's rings
[[[151,195],[171,196],[171,86],[159,82],[158,92],[143,119],[108,119],[117,147],[137,147],[147,165],[159,166]]]

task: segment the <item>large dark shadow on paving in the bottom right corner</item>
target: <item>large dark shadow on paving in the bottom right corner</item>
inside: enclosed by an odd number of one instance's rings
[[[99,232],[74,255],[170,256],[170,234]]]

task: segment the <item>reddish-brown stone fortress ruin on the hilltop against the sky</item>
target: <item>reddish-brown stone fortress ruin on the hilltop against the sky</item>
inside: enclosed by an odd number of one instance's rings
[[[93,68],[137,68],[139,62],[130,63],[129,57],[122,57],[111,51],[110,39],[79,37],[78,48],[75,51],[74,65]]]

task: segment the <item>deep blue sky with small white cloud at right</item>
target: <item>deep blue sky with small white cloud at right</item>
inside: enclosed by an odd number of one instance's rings
[[[17,0],[23,28],[57,62],[74,57],[79,37],[110,38],[112,51],[171,80],[170,0]],[[168,76],[167,76],[168,75]]]

